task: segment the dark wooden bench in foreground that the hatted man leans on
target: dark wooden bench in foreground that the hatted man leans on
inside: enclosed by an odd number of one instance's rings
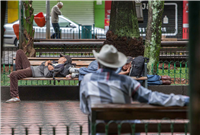
[[[89,130],[96,133],[117,134],[138,132],[175,133],[188,132],[187,107],[162,107],[133,102],[132,104],[96,104],[91,107]],[[165,119],[165,120],[164,120]],[[168,120],[167,120],[168,119]],[[177,120],[179,119],[179,120]],[[110,121],[96,124],[96,120]],[[124,122],[119,128],[119,122],[111,120],[141,120],[141,123]],[[92,124],[91,124],[92,123]],[[96,125],[95,125],[96,124]],[[145,128],[146,127],[146,128]],[[107,128],[107,130],[106,130]]]

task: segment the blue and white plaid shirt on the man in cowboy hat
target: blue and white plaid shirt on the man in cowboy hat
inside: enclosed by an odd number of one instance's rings
[[[81,82],[80,108],[85,114],[90,114],[92,104],[130,104],[132,100],[162,106],[184,106],[189,102],[189,97],[152,92],[131,77],[108,69],[89,73]]]

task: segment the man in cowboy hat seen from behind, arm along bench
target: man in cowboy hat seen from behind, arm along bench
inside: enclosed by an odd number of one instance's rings
[[[131,104],[132,99],[161,106],[185,106],[189,103],[187,96],[152,92],[131,77],[116,74],[116,69],[122,67],[127,58],[113,45],[104,45],[99,53],[93,50],[93,54],[100,69],[85,75],[81,82],[80,109],[83,113],[90,114],[92,104]]]

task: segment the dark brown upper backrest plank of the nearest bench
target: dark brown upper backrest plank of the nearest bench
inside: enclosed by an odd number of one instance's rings
[[[117,110],[116,110],[117,111]],[[129,110],[126,109],[123,111],[97,111],[96,120],[149,120],[149,119],[187,119],[186,110],[148,110],[148,109],[139,109],[139,110]]]

